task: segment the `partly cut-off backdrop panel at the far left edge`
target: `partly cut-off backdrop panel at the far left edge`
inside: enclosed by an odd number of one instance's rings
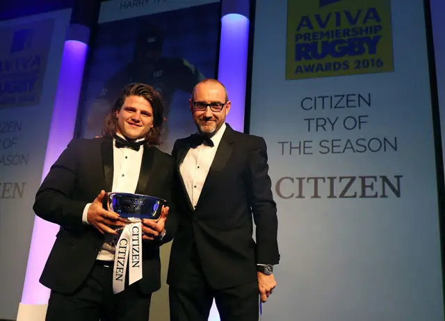
[[[15,319],[71,10],[0,22],[0,319]]]

